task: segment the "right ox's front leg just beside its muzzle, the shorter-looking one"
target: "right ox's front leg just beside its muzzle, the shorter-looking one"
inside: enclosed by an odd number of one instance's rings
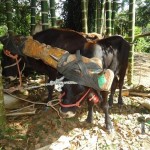
[[[88,104],[88,115],[86,118],[86,122],[92,123],[93,122],[93,105],[94,103],[92,101],[87,100]]]

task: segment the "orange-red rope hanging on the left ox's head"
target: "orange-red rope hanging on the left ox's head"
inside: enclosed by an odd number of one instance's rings
[[[21,71],[20,71],[20,66],[19,66],[19,61],[18,61],[18,55],[12,55],[9,50],[4,50],[4,54],[6,56],[16,60],[18,74],[19,74],[19,87],[21,87],[22,86],[22,77],[21,77]]]

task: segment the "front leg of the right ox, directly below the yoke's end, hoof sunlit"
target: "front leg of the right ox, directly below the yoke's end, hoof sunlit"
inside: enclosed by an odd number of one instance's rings
[[[102,107],[103,112],[105,114],[106,129],[111,131],[111,129],[113,129],[113,126],[112,126],[111,119],[109,116],[109,104],[107,102],[108,92],[102,92],[102,97],[103,97],[103,101],[101,103],[101,107]]]

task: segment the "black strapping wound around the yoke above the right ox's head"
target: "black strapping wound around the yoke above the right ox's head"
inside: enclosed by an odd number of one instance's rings
[[[75,81],[80,85],[88,86],[94,88],[95,90],[102,90],[100,89],[97,82],[98,74],[90,75],[88,72],[88,69],[96,68],[100,69],[100,72],[102,73],[102,68],[100,68],[97,64],[94,63],[83,63],[80,51],[77,51],[77,60],[73,60],[64,65],[63,62],[66,61],[67,57],[68,54],[62,56],[58,62],[57,70],[60,73],[62,73],[69,80]]]

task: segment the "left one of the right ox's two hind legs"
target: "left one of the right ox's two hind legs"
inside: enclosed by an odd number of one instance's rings
[[[115,77],[114,80],[113,80],[112,86],[111,86],[111,93],[110,93],[110,96],[109,96],[109,106],[110,107],[113,105],[113,97],[114,97],[117,85],[118,85],[118,79],[117,79],[117,77]]]

